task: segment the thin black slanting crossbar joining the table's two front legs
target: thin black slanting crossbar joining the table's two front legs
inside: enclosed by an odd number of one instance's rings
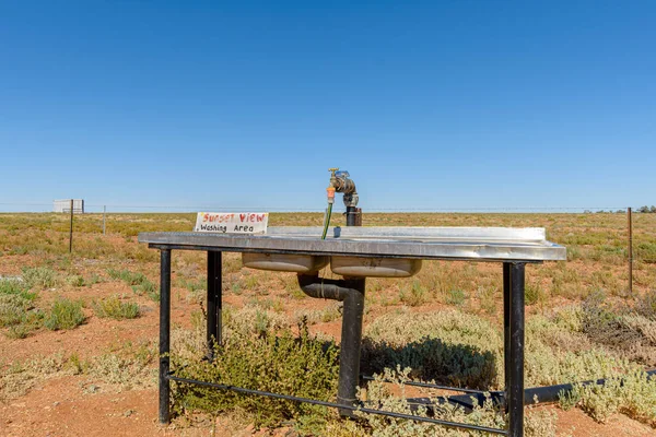
[[[167,378],[173,381],[177,381],[177,382],[212,387],[212,388],[220,389],[220,390],[231,390],[231,391],[236,391],[236,392],[246,393],[246,394],[257,394],[257,395],[263,395],[263,397],[268,397],[268,398],[284,399],[286,401],[303,402],[303,403],[309,403],[309,404],[314,404],[314,405],[328,406],[328,408],[332,408],[332,409],[350,410],[350,411],[367,413],[367,414],[378,414],[378,415],[396,417],[396,418],[406,418],[409,421],[432,423],[435,425],[442,425],[442,426],[447,426],[447,427],[452,427],[452,428],[480,430],[483,433],[500,434],[500,435],[507,436],[507,432],[505,429],[489,428],[487,426],[470,425],[470,424],[465,424],[465,423],[459,423],[459,422],[441,421],[438,418],[421,417],[421,416],[415,416],[412,414],[395,413],[391,411],[367,409],[367,408],[363,408],[363,406],[342,405],[342,404],[335,403],[335,402],[319,401],[316,399],[300,398],[300,397],[294,397],[294,395],[289,395],[289,394],[271,393],[269,391],[245,389],[242,387],[226,386],[223,383],[199,381],[197,379],[180,378],[180,377],[173,376],[173,375],[168,375]]]

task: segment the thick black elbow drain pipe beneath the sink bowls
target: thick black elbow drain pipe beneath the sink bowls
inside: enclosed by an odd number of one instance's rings
[[[298,285],[311,297],[344,303],[342,315],[341,347],[339,353],[339,382],[337,403],[352,406],[356,403],[360,378],[360,346],[362,343],[362,315],[364,310],[365,280],[325,280],[318,275],[298,274]],[[343,417],[352,417],[353,411],[340,409]]]

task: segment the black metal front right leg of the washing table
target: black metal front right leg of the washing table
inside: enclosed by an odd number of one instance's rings
[[[504,324],[508,319],[507,327],[504,326],[504,358],[511,437],[524,436],[524,273],[523,262],[504,265],[504,288],[507,288],[504,297],[507,295],[509,298],[508,307],[504,308]],[[509,281],[505,280],[506,276]]]

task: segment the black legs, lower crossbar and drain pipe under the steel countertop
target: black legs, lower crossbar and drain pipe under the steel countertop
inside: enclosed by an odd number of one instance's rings
[[[297,402],[307,402],[317,405],[337,408],[341,415],[352,416],[354,412],[380,414],[393,417],[408,418],[417,422],[440,424],[448,427],[475,429],[491,434],[501,434],[512,437],[524,436],[524,291],[525,291],[525,262],[503,263],[503,306],[504,306],[504,368],[505,368],[505,408],[508,414],[508,427],[506,429],[475,426],[449,421],[441,421],[430,417],[419,417],[411,414],[399,414],[377,409],[370,409],[358,404],[355,390],[360,378],[360,346],[362,339],[362,315],[364,309],[364,280],[331,281],[323,280],[321,283],[313,284],[306,280],[304,288],[319,286],[323,296],[338,298],[344,302],[344,314],[342,320],[342,351],[340,353],[340,373],[338,386],[338,399],[335,402],[325,402],[293,395],[270,393],[266,391],[245,389],[208,381],[199,381],[179,378],[171,371],[171,248],[160,247],[160,423],[167,424],[171,420],[171,381],[195,383],[214,387],[223,390],[233,390],[243,393],[266,395],[278,399],[288,399]],[[208,250],[208,353],[213,358],[213,346],[221,343],[221,299],[222,299],[222,253]],[[300,277],[301,279],[301,277]],[[313,277],[309,276],[309,280]],[[301,281],[300,281],[301,282]],[[301,283],[303,286],[303,283]],[[341,291],[345,293],[339,297],[332,297],[329,290],[333,290],[335,296]],[[343,287],[342,287],[343,286]],[[339,290],[340,288],[340,290]],[[307,291],[306,291],[307,293]],[[312,292],[314,293],[314,292]],[[317,292],[318,293],[318,292]],[[370,379],[370,378],[365,378]],[[475,390],[452,388],[455,391],[475,392]]]

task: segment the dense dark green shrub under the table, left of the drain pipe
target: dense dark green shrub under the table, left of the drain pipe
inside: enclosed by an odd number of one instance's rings
[[[279,335],[266,331],[260,336],[226,338],[211,363],[185,354],[174,354],[172,361],[176,375],[184,378],[332,401],[339,373],[337,356],[335,345],[326,345],[301,327],[297,335],[284,330]],[[178,413],[216,414],[239,409],[253,416],[256,426],[277,426],[290,420],[307,422],[307,417],[313,418],[314,426],[320,426],[328,414],[316,405],[186,383],[175,383],[174,399]]]

